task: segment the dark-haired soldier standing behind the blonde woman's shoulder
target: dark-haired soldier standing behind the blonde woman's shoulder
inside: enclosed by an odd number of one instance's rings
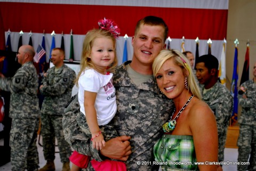
[[[233,97],[228,89],[218,82],[219,62],[211,54],[203,55],[196,61],[196,77],[202,88],[203,101],[214,112],[219,139],[219,161],[224,160],[224,149],[228,124],[233,111]]]

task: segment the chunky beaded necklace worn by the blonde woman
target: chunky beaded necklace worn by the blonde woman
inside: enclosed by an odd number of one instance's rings
[[[173,117],[173,114],[174,114],[174,112],[175,112],[175,109],[174,109],[174,111],[173,111],[173,113],[172,113],[172,116],[171,116],[171,119],[169,120],[169,122],[167,122],[167,123],[165,123],[164,125],[163,125],[163,131],[165,132],[165,133],[169,133],[169,132],[171,132],[171,131],[173,131],[173,129],[175,128],[175,125],[176,125],[176,120],[179,118],[179,116],[180,116],[180,114],[182,113],[182,111],[187,107],[187,105],[188,105],[188,103],[191,101],[191,99],[194,97],[194,95],[191,95],[190,97],[189,97],[189,99],[188,99],[188,101],[183,105],[183,107],[180,109],[180,111],[179,111],[179,113],[177,114],[177,116],[175,116],[175,118],[174,119],[172,119],[172,117]]]

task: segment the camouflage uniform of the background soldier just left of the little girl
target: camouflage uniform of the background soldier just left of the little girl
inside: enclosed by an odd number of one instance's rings
[[[40,89],[45,96],[41,109],[42,137],[45,160],[55,159],[55,137],[58,140],[61,162],[68,162],[71,154],[69,144],[65,141],[62,129],[62,114],[71,97],[74,86],[75,71],[65,64],[58,70],[55,67],[47,71]]]

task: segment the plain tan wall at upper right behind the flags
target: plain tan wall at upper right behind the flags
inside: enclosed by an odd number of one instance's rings
[[[227,51],[226,51],[226,75],[227,87],[230,89],[230,82],[233,75],[233,64],[235,54],[234,41],[239,40],[238,47],[238,85],[242,76],[246,43],[250,42],[250,79],[252,69],[256,62],[256,1],[255,0],[230,0],[228,7],[227,27]]]

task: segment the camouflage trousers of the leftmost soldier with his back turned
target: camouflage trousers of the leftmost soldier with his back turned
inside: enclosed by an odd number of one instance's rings
[[[36,146],[39,119],[13,118],[10,132],[11,165],[13,171],[38,170]]]

